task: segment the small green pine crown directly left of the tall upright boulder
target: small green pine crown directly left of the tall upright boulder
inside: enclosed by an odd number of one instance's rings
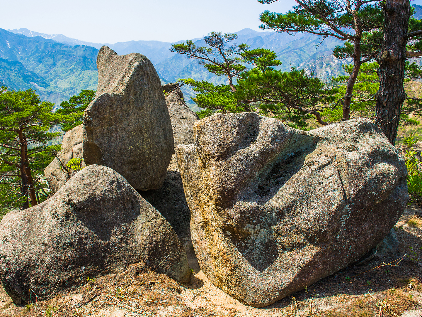
[[[82,89],[77,96],[72,96],[69,101],[63,101],[60,107],[56,110],[59,115],[67,115],[69,118],[65,123],[62,123],[62,130],[67,132],[76,126],[82,124],[82,117],[88,105],[94,100],[95,91]]]

